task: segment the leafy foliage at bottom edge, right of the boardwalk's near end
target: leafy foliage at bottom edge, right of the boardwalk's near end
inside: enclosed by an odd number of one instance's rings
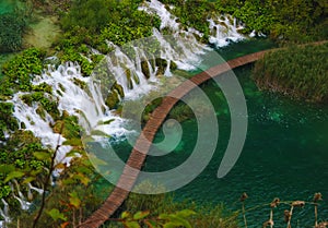
[[[237,214],[227,212],[222,204],[197,206],[174,202],[172,194],[150,194],[163,191],[163,187],[149,181],[138,184],[136,190],[143,194],[130,193],[120,218],[110,219],[108,227],[238,227]]]

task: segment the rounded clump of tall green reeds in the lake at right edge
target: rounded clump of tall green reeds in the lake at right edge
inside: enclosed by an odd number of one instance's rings
[[[262,89],[309,101],[328,101],[328,44],[274,50],[256,62],[254,80]]]

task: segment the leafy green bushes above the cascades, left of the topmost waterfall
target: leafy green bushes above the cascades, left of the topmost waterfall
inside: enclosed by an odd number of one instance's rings
[[[108,53],[113,49],[107,46],[106,40],[122,46],[150,36],[153,27],[160,27],[160,20],[139,11],[139,3],[140,1],[131,0],[74,1],[71,10],[61,20],[66,32],[57,47],[63,52],[61,59],[78,61],[83,73],[89,75],[94,65],[80,55],[85,55],[89,47]]]

